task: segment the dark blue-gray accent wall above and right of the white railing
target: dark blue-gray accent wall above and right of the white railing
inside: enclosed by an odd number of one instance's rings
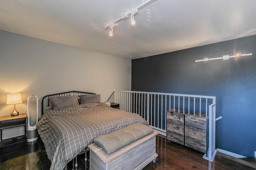
[[[195,60],[252,53],[252,56]],[[216,148],[256,151],[256,35],[132,60],[132,90],[216,96]]]

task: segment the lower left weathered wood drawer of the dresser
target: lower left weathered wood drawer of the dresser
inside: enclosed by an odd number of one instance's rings
[[[168,121],[166,139],[184,145],[184,125]]]

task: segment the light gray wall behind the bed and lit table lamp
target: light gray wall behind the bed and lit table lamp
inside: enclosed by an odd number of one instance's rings
[[[20,92],[26,113],[27,98],[70,90],[101,94],[131,89],[131,60],[53,43],[0,30],[0,116],[10,115],[6,94]],[[39,103],[39,115],[40,113]]]

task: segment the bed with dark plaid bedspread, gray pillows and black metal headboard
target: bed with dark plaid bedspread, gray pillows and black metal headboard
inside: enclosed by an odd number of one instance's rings
[[[94,138],[134,123],[148,125],[136,113],[100,102],[99,94],[71,91],[42,98],[42,117],[37,128],[52,162],[50,170],[62,170]]]

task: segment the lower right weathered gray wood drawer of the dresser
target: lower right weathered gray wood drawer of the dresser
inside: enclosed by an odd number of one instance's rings
[[[185,146],[206,153],[206,130],[185,125]]]

